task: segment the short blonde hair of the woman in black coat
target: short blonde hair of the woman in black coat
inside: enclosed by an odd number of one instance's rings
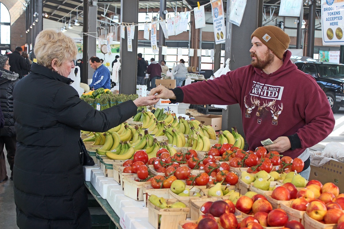
[[[37,35],[33,51],[37,64],[53,69],[53,59],[57,59],[56,66],[59,67],[66,60],[75,60],[78,49],[75,41],[63,32],[45,29]]]

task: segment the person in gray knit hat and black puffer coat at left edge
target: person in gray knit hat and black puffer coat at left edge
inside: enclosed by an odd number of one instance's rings
[[[13,179],[13,164],[16,148],[16,135],[13,120],[13,88],[19,81],[18,73],[10,71],[9,58],[0,54],[0,106],[4,117],[3,128],[0,129],[0,183],[7,180],[5,153],[6,147],[7,161],[10,165]]]

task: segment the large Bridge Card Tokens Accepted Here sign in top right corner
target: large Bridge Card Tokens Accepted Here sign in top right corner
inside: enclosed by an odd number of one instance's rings
[[[344,45],[344,2],[326,0],[321,4],[323,45]]]

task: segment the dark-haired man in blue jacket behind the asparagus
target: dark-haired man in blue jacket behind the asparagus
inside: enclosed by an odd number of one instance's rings
[[[105,65],[101,64],[100,59],[96,56],[91,57],[89,65],[96,70],[93,73],[92,83],[89,87],[94,87],[95,90],[98,88],[111,89],[110,71]]]

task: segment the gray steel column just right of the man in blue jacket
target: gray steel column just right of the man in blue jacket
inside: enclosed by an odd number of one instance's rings
[[[138,24],[139,20],[139,0],[121,0],[121,22],[128,24]],[[160,31],[162,33],[162,31]],[[132,52],[128,51],[126,37],[120,39],[121,75],[119,80],[119,92],[122,94],[136,94],[137,82],[137,36],[138,30],[135,29],[135,37],[132,39]]]

